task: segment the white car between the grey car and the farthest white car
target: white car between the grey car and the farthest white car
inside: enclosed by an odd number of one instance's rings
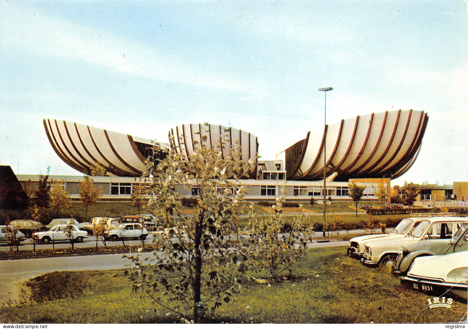
[[[391,268],[395,265],[401,246],[429,239],[450,239],[466,217],[421,217],[421,221],[407,235],[393,239],[374,239],[364,243],[361,262],[366,265],[380,265]],[[448,240],[446,240],[447,242]]]

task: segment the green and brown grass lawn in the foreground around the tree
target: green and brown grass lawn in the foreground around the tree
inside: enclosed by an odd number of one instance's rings
[[[232,303],[219,308],[214,322],[458,322],[467,312],[466,303],[458,301],[452,308],[426,308],[430,296],[402,288],[386,272],[362,266],[346,256],[345,247],[311,249],[292,274],[297,279],[270,286],[249,282]],[[123,270],[55,272],[32,282],[41,292],[36,296],[51,300],[36,303],[26,298],[23,305],[2,307],[1,322],[177,322],[147,296],[132,293]],[[58,289],[47,292],[44,287],[50,286]]]

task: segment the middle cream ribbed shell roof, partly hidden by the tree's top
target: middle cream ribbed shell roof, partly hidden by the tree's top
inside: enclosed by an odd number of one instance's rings
[[[247,131],[213,125],[213,124],[183,124],[171,129],[171,133],[176,137],[177,146],[190,157],[195,153],[197,145],[219,150],[221,156],[225,158],[231,148],[239,146],[241,148],[241,161],[243,170],[249,170],[248,178],[256,177],[256,164],[258,153],[257,137]],[[206,138],[202,138],[206,136]],[[249,160],[252,159],[251,164]]]

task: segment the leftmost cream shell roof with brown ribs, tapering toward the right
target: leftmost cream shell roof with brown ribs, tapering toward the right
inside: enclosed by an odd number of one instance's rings
[[[44,119],[43,122],[49,142],[57,155],[66,164],[85,174],[99,166],[116,176],[141,176],[146,171],[148,151],[151,153],[155,145],[149,139],[75,122],[51,119]]]

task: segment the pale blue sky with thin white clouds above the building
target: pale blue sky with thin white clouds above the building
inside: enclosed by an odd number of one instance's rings
[[[429,115],[392,185],[468,181],[465,0],[0,2],[0,164],[81,176],[44,118],[168,141],[181,124],[258,137],[264,160],[327,123]],[[280,153],[278,155],[278,153]]]

